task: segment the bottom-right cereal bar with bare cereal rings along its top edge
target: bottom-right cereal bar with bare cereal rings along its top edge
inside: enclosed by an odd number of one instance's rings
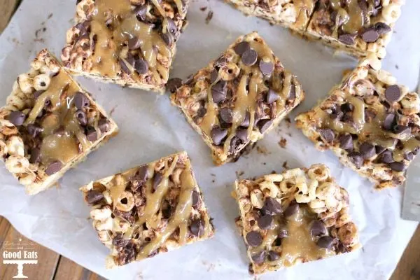
[[[235,182],[236,219],[255,274],[360,247],[349,195],[325,165]]]

